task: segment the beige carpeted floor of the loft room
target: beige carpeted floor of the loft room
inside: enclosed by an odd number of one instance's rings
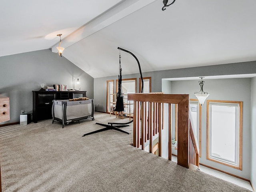
[[[97,113],[62,129],[52,120],[0,128],[2,190],[7,192],[250,191],[131,146],[131,134],[96,122],[128,122]]]

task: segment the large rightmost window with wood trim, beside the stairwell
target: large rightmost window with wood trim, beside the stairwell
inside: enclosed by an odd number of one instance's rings
[[[242,102],[206,105],[206,159],[242,170]]]

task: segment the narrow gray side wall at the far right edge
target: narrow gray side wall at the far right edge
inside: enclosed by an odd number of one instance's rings
[[[251,152],[252,152],[252,176],[251,183],[256,189],[256,77],[252,78],[252,125],[251,125]]]

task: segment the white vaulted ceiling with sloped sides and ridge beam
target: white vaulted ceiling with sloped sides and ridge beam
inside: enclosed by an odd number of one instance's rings
[[[168,2],[168,4],[172,0]],[[256,60],[255,0],[2,0],[0,56],[52,48],[94,78]],[[121,51],[123,74],[138,73]],[[64,59],[59,57],[59,59]]]

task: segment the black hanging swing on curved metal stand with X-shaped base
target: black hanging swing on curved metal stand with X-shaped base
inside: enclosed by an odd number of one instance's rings
[[[139,66],[139,70],[140,70],[140,78],[141,78],[141,92],[143,92],[143,78],[142,78],[142,72],[141,72],[139,60],[130,51],[127,51],[127,50],[122,49],[120,47],[118,47],[118,50],[119,51],[122,50],[122,51],[130,53],[132,56],[134,56],[134,58],[138,62],[138,66]],[[123,112],[124,111],[124,98],[122,96],[122,68],[121,68],[121,54],[120,53],[119,53],[118,92],[116,94],[116,108],[115,108],[115,111],[116,112]],[[96,130],[96,131],[93,131],[93,132],[90,132],[90,133],[86,133],[82,137],[84,137],[86,135],[90,135],[90,134],[110,130],[110,129],[120,131],[120,132],[123,132],[123,133],[126,133],[126,134],[130,134],[130,133],[120,129],[120,127],[127,127],[127,126],[129,126],[128,124],[130,124],[131,122],[133,122],[133,120],[131,120],[129,122],[126,122],[126,123],[112,123],[112,122],[108,122],[108,124],[96,123],[98,125],[104,126],[105,128],[102,128],[102,129],[99,129],[99,130]]]

